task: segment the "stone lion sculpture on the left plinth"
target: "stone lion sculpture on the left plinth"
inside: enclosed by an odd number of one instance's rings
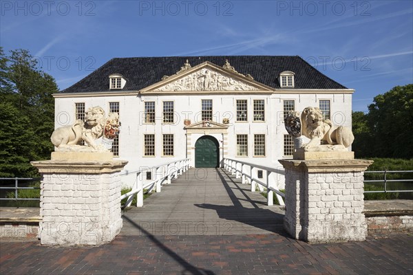
[[[90,107],[85,113],[85,122],[76,120],[72,125],[54,130],[50,140],[58,151],[70,151],[70,148],[81,145],[82,140],[94,151],[100,151],[94,141],[102,137],[105,123],[105,111],[101,107]]]

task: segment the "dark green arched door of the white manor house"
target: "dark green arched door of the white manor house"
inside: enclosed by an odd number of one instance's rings
[[[215,137],[204,135],[195,142],[195,168],[215,168],[220,164],[220,144]]]

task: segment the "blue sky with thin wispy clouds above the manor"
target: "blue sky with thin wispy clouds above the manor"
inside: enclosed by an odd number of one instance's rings
[[[413,83],[413,1],[1,1],[0,45],[65,89],[109,59],[299,55],[355,89]],[[235,68],[236,69],[236,68]]]

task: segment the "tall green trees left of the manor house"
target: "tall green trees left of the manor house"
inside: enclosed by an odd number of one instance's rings
[[[27,50],[0,47],[0,177],[38,175],[32,160],[48,159],[53,150],[54,78],[36,68]]]

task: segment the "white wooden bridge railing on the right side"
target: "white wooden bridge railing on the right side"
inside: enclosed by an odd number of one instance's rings
[[[284,175],[284,169],[271,168],[267,166],[241,162],[237,159],[224,158],[224,168],[235,175],[236,178],[242,178],[242,184],[251,184],[251,192],[258,188],[261,192],[266,189],[267,205],[272,206],[273,196],[277,196],[278,202],[284,206],[284,193],[278,189],[277,180],[279,175]],[[262,177],[258,177],[259,171],[262,170]]]

